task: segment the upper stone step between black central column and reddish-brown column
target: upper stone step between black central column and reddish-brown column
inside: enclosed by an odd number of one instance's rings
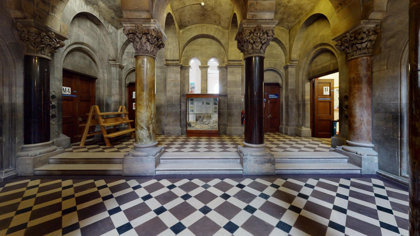
[[[273,152],[276,163],[346,163],[349,157],[337,152]]]

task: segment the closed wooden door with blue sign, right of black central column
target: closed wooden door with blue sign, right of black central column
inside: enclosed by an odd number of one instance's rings
[[[264,132],[278,132],[280,125],[280,85],[264,84]]]

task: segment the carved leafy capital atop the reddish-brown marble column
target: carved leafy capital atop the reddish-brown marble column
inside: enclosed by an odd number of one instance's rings
[[[371,27],[359,27],[334,39],[336,49],[346,52],[348,58],[372,55],[375,39],[380,32],[379,24]]]

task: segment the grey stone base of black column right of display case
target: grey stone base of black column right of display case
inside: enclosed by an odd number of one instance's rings
[[[274,155],[270,153],[266,144],[248,144],[238,146],[244,175],[275,174],[276,163]]]

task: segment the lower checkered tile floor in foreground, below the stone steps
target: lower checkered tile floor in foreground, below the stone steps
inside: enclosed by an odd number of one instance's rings
[[[1,184],[1,183],[0,183]],[[380,178],[18,179],[0,235],[408,235],[408,192]]]

